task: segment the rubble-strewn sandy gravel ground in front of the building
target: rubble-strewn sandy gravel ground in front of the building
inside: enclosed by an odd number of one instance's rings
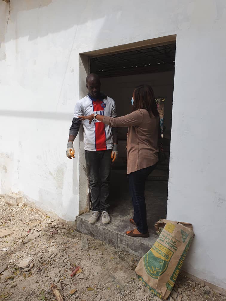
[[[0,300],[153,300],[134,272],[140,258],[115,249],[25,204],[8,206],[0,197]],[[87,237],[89,250],[81,249]],[[6,250],[4,248],[7,248]],[[71,277],[71,270],[80,273]],[[226,298],[180,275],[170,301]]]

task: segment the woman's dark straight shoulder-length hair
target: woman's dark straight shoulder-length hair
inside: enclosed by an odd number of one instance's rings
[[[137,86],[133,92],[133,111],[139,109],[147,110],[150,117],[152,117],[152,114],[159,116],[155,95],[152,87],[149,85]]]

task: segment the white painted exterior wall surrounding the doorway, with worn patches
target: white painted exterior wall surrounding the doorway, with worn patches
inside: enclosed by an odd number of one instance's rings
[[[226,288],[225,30],[223,0],[11,0],[0,61],[1,193],[22,191],[74,220],[78,154],[71,161],[65,150],[78,54],[177,34],[168,219],[194,226],[187,271]]]

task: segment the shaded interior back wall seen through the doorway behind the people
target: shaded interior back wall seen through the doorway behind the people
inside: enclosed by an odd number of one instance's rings
[[[171,133],[174,71],[109,77],[101,79],[101,90],[115,100],[117,115],[131,113],[131,98],[136,86],[151,85],[155,98],[165,98],[164,125]],[[118,138],[126,140],[127,128],[118,129]]]

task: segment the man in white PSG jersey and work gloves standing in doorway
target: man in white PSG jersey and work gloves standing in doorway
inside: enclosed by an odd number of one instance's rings
[[[89,218],[95,224],[101,214],[103,224],[109,224],[108,196],[110,189],[111,161],[118,156],[118,133],[97,119],[81,120],[78,116],[93,113],[116,117],[115,101],[100,92],[100,79],[91,73],[86,77],[88,95],[80,99],[74,108],[69,138],[67,143],[67,157],[74,158],[73,141],[78,134],[80,124],[84,129],[85,158],[89,174],[89,187],[92,201],[92,214]]]

